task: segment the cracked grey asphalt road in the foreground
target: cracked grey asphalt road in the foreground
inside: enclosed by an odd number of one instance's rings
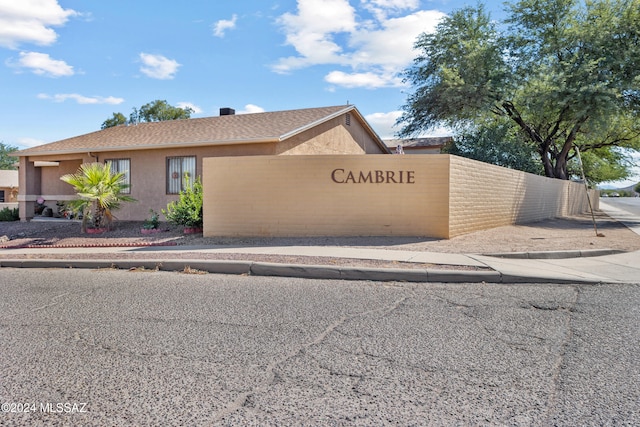
[[[640,285],[7,268],[0,291],[3,426],[640,424]]]

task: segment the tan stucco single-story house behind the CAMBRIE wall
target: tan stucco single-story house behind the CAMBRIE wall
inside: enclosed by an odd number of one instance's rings
[[[207,157],[309,154],[390,154],[353,105],[220,116],[117,126],[21,150],[20,219],[34,216],[36,202],[56,212],[56,202],[74,199],[60,177],[81,164],[111,162],[126,174],[130,196],[115,214],[143,220],[177,200],[183,176],[201,176]]]

